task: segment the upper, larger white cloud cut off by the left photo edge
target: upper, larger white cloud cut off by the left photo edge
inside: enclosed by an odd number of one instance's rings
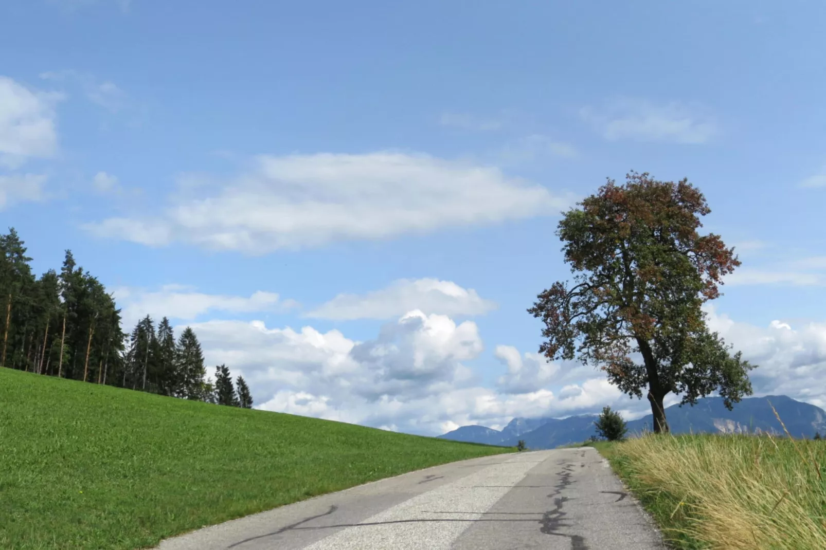
[[[57,150],[54,92],[37,92],[0,76],[0,165],[17,168],[31,157]]]

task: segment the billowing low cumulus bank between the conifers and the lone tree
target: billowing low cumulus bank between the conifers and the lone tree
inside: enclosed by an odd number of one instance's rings
[[[411,311],[363,342],[339,330],[271,329],[262,321],[191,326],[207,364],[243,374],[264,410],[435,435],[458,425],[501,426],[514,416],[570,415],[628,401],[593,370],[578,382],[563,382],[559,373],[553,381],[559,396],[551,384],[541,386],[544,378],[508,391],[482,386],[468,364],[483,349],[477,325],[446,315]]]

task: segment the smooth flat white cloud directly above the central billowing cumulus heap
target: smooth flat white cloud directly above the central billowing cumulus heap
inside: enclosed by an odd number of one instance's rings
[[[391,319],[412,310],[456,316],[482,315],[495,308],[496,303],[483,299],[472,288],[422,278],[400,279],[387,288],[363,295],[339,294],[306,316],[333,320]]]

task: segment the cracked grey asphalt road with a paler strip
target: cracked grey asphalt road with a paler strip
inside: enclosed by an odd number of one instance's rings
[[[593,448],[474,458],[282,506],[159,550],[661,549]]]

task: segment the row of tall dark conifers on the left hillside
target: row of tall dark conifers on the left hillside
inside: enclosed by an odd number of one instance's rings
[[[39,278],[26,246],[10,228],[0,235],[0,367],[251,408],[243,377],[229,368],[207,378],[201,344],[186,327],[176,339],[169,319],[146,315],[130,333],[103,284],[66,250],[60,271]]]

